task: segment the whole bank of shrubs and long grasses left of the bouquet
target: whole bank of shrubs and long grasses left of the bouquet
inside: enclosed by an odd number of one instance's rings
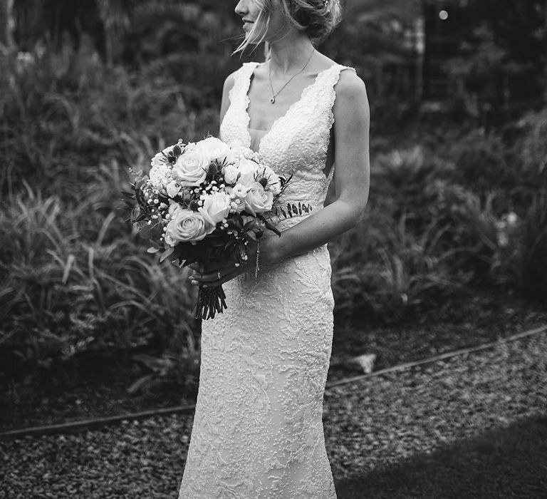
[[[214,131],[216,111],[189,110],[172,81],[106,68],[87,46],[37,48],[8,63],[0,373],[45,381],[89,356],[180,351],[196,329],[193,289],[146,254],[123,220],[120,191],[127,167]]]

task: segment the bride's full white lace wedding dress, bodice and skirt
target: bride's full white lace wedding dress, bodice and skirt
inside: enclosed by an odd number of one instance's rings
[[[258,63],[236,71],[221,125],[229,144],[251,146],[249,98]],[[283,203],[321,210],[335,84],[345,66],[318,74],[260,142],[265,162],[293,178]],[[312,213],[313,213],[312,212]],[[302,215],[308,216],[308,215]],[[278,222],[282,231],[302,217]],[[224,284],[228,309],[202,324],[202,364],[179,499],[333,499],[323,391],[333,340],[330,258],[324,245],[257,279]]]

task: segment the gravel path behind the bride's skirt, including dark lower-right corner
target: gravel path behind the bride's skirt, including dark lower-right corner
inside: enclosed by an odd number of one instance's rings
[[[339,499],[545,497],[546,333],[335,387],[324,409]],[[0,498],[176,498],[191,428],[1,442]]]

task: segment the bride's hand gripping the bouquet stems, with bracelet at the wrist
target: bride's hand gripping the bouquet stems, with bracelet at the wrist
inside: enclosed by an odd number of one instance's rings
[[[257,248],[258,245],[256,242],[249,242],[246,246],[246,262],[241,263],[236,257],[231,255],[230,258],[212,260],[206,264],[194,263],[189,265],[194,271],[189,277],[191,284],[204,287],[219,286],[240,274],[244,274],[244,272],[249,272],[249,270],[254,271]],[[262,254],[262,250],[260,253]]]

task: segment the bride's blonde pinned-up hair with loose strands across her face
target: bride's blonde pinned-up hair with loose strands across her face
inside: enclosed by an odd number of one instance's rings
[[[259,7],[259,16],[249,35],[236,48],[234,53],[243,52],[248,46],[258,46],[266,38],[271,17],[272,0],[255,0]],[[298,31],[306,31],[313,43],[320,43],[335,29],[341,19],[340,0],[278,0],[287,21]],[[260,26],[266,26],[264,32],[256,32]],[[251,41],[254,36],[257,40]]]

